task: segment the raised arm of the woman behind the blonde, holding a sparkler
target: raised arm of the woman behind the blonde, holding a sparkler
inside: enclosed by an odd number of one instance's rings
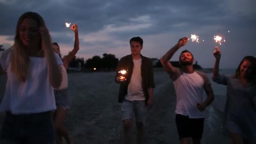
[[[75,32],[75,43],[74,43],[74,48],[72,49],[72,51],[67,56],[65,56],[63,59],[63,65],[66,70],[67,70],[69,61],[71,61],[75,57],[75,55],[77,54],[77,51],[79,50],[79,37],[78,37],[77,24],[73,24],[71,29],[72,29],[72,31]]]

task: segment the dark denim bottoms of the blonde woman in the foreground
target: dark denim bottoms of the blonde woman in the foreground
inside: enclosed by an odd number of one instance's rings
[[[55,131],[51,112],[13,115],[5,113],[1,144],[51,144]]]

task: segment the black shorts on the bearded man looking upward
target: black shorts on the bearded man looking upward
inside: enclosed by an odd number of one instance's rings
[[[176,114],[176,126],[179,139],[191,137],[200,140],[203,135],[204,118],[189,118],[188,116]]]

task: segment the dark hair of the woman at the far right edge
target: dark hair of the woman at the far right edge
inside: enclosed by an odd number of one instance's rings
[[[245,56],[243,58],[243,60],[240,62],[240,64],[238,65],[236,71],[235,71],[235,77],[239,77],[240,76],[240,67],[243,63],[243,61],[250,61],[251,62],[251,75],[248,76],[248,80],[252,81],[252,80],[256,80],[256,58],[254,56]]]

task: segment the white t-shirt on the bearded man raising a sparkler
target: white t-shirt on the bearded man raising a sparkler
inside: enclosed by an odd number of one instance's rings
[[[197,108],[197,104],[203,103],[203,87],[210,84],[207,75],[198,71],[187,74],[176,68],[172,79],[177,97],[175,113],[189,118],[203,118],[204,112]]]

